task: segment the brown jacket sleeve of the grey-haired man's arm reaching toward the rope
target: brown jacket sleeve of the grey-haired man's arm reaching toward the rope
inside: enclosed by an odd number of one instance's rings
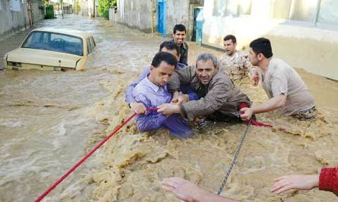
[[[181,105],[182,114],[192,120],[197,116],[211,114],[223,107],[231,93],[231,86],[226,81],[214,83],[205,97]]]

